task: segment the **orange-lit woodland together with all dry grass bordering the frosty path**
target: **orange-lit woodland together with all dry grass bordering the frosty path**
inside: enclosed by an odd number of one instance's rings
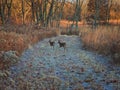
[[[83,48],[120,62],[119,24],[120,0],[0,0],[0,59],[44,38],[75,34]]]

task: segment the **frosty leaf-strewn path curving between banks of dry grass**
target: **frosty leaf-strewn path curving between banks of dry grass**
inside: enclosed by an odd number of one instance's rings
[[[52,39],[65,40],[67,51],[44,39],[23,53],[11,77],[32,83],[28,90],[120,90],[120,67],[109,58],[83,50],[77,36]]]

